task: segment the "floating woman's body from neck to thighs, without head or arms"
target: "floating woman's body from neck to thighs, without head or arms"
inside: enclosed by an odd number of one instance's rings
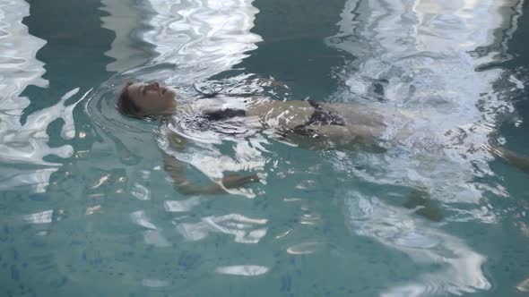
[[[398,108],[301,100],[280,101],[265,97],[238,98],[219,95],[188,101],[178,106],[178,117],[203,123],[203,128],[207,125],[208,128],[225,131],[218,128],[229,124],[230,131],[238,126],[235,130],[268,129],[283,135],[296,132],[299,127],[315,124],[315,115],[318,113],[332,115],[333,118],[330,122],[327,121],[328,123],[317,122],[317,125],[364,127],[375,131],[372,135],[374,139],[386,141],[410,136],[409,124],[423,118],[419,114]]]

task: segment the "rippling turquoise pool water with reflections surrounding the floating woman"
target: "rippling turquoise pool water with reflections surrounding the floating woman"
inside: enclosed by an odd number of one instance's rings
[[[0,296],[524,296],[529,175],[486,148],[529,155],[527,9],[0,0]],[[177,127],[193,181],[261,177],[185,196],[158,124],[114,109],[131,79],[429,121],[384,155]],[[442,219],[404,207],[416,189]]]

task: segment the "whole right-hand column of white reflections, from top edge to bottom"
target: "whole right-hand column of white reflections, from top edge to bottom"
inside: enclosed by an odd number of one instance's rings
[[[501,185],[474,182],[492,174],[488,152],[497,117],[513,111],[500,69],[477,72],[505,58],[506,38],[516,30],[521,1],[357,1],[350,0],[331,47],[357,57],[339,70],[344,88],[334,100],[408,108],[425,116],[400,148],[384,156],[360,154],[354,160],[335,153],[337,168],[362,181],[421,187],[447,203],[454,221],[498,221],[483,192],[506,196]],[[505,32],[505,34],[504,34]],[[484,70],[484,69],[481,69]],[[509,78],[509,88],[520,88]],[[523,88],[523,87],[522,87]],[[379,98],[379,102],[371,101]],[[398,121],[387,123],[396,130]],[[391,133],[388,133],[391,136]],[[357,169],[361,168],[361,169]],[[407,284],[386,284],[384,296],[463,294],[490,289],[482,266],[486,258],[464,240],[429,225],[411,210],[386,203],[392,197],[349,193],[345,199],[351,232],[375,239],[434,272]],[[472,203],[476,210],[451,202]],[[483,207],[481,207],[483,205]],[[447,218],[451,220],[450,217]]]

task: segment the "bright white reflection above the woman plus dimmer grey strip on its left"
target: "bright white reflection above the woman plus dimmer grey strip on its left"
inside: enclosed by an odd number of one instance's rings
[[[252,2],[150,0],[131,8],[103,1],[103,10],[111,14],[103,17],[103,26],[116,32],[107,55],[117,61],[108,68],[124,71],[147,62],[134,56],[138,45],[148,42],[157,64],[171,63],[178,68],[200,64],[217,72],[229,69],[262,40],[250,32],[258,12]],[[116,18],[122,21],[114,21]]]

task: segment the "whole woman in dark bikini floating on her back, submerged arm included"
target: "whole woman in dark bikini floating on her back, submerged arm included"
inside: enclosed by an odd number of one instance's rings
[[[408,123],[427,120],[403,109],[340,103],[317,103],[310,100],[280,101],[262,96],[208,96],[198,100],[178,98],[175,89],[159,82],[128,82],[117,96],[117,110],[137,119],[159,118],[170,122],[171,115],[195,115],[194,120],[218,123],[241,119],[241,125],[272,132],[277,137],[303,147],[348,148],[374,153],[386,152],[412,134]],[[167,120],[167,121],[166,121]],[[392,124],[386,124],[392,123]],[[398,123],[395,125],[395,123]],[[387,127],[391,129],[387,129]],[[182,151],[186,139],[174,133],[169,137],[172,148]],[[490,145],[490,152],[519,168],[529,168],[527,157]],[[256,174],[225,175],[219,183],[198,186],[189,182],[184,164],[164,154],[165,170],[183,193],[219,193],[257,182]],[[529,169],[528,169],[529,170]]]

